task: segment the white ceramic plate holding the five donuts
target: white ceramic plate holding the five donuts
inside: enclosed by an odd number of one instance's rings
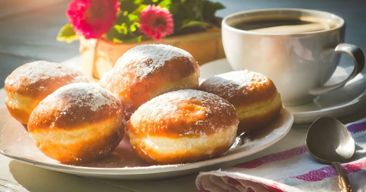
[[[273,145],[288,133],[294,121],[294,116],[283,107],[279,116],[261,130],[261,133],[238,137],[228,152],[210,160],[176,165],[153,165],[135,156],[128,137],[124,137],[109,157],[75,166],[61,164],[41,153],[23,125],[12,118],[5,107],[0,108],[0,117],[0,153],[4,156],[73,175],[123,180],[161,179],[216,169],[217,164],[248,156]]]

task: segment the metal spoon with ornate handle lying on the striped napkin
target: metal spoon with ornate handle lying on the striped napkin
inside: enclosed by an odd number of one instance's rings
[[[335,166],[341,192],[351,192],[350,181],[340,165],[340,162],[351,160],[356,153],[355,141],[346,126],[332,117],[318,118],[307,130],[305,144],[317,160]]]

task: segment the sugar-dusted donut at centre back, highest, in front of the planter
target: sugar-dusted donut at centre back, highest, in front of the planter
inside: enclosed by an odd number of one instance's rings
[[[180,89],[198,89],[199,67],[187,51],[164,44],[136,46],[120,57],[112,92],[133,113],[150,99]]]

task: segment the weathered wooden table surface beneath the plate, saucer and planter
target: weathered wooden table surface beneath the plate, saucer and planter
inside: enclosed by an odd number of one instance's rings
[[[61,26],[67,22],[64,13],[70,1],[65,0],[3,0],[0,1],[0,87],[16,67],[34,60],[63,62],[78,56],[78,42],[66,44],[56,41]],[[306,8],[335,13],[347,23],[346,42],[366,50],[364,8],[366,1],[353,0],[220,0],[227,8],[218,16],[262,8]],[[76,58],[76,61],[78,58]],[[352,64],[348,57],[341,63]],[[0,107],[4,89],[0,89]],[[366,117],[366,111],[355,111],[343,123]],[[1,117],[0,117],[1,118]],[[225,168],[266,154],[280,152],[305,144],[309,124],[294,125],[282,140],[259,153],[220,165]],[[0,155],[0,191],[198,191],[197,174],[171,179],[148,181],[116,181],[84,178],[12,161]]]

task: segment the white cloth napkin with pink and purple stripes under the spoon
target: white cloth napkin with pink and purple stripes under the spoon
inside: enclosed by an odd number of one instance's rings
[[[366,118],[346,125],[356,142],[356,155],[342,164],[353,191],[366,191]],[[201,172],[196,179],[202,192],[339,191],[335,168],[315,160],[305,145],[269,154],[231,168]]]

